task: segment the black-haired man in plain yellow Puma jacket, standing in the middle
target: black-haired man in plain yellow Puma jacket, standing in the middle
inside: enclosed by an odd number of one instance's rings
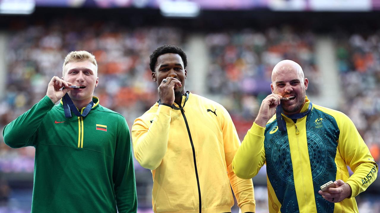
[[[185,53],[163,45],[150,56],[160,101],[132,127],[135,157],[152,170],[154,212],[254,212],[252,180],[236,177],[232,160],[239,138],[222,105],[185,92]]]

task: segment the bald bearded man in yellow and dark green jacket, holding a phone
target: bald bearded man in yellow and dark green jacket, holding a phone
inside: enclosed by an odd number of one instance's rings
[[[312,104],[307,85],[294,61],[274,67],[273,93],[263,100],[233,171],[250,179],[266,163],[270,212],[358,212],[355,196],[376,179],[378,166],[353,122]],[[335,187],[322,192],[330,180]]]

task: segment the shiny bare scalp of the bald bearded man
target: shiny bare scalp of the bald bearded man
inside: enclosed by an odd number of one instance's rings
[[[272,71],[272,83],[275,83],[275,80],[277,78],[277,75],[283,74],[283,73],[288,73],[290,70],[293,70],[293,74],[297,75],[297,78],[300,80],[304,80],[304,71],[302,70],[301,66],[297,64],[294,61],[291,60],[283,60],[280,61],[279,63],[274,66],[273,71]],[[295,76],[294,76],[295,77]]]

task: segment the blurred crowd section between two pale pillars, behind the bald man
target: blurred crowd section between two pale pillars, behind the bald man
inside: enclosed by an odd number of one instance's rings
[[[296,32],[290,27],[225,31],[206,34],[205,42],[211,61],[207,90],[220,96],[241,139],[251,127],[261,101],[271,93],[271,73],[279,61],[299,63],[312,79],[307,94],[319,93],[315,34],[310,31]]]

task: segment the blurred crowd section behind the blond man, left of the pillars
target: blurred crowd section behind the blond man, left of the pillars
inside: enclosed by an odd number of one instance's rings
[[[162,44],[182,46],[180,30],[128,29],[114,22],[88,25],[85,20],[57,20],[13,29],[6,48],[8,74],[0,101],[0,128],[45,96],[47,83],[54,75],[62,76],[63,60],[73,50],[95,55],[99,85],[94,95],[101,105],[126,117],[131,126],[158,100],[149,55]],[[33,147],[10,149],[0,143],[0,171],[33,172],[33,162]]]

